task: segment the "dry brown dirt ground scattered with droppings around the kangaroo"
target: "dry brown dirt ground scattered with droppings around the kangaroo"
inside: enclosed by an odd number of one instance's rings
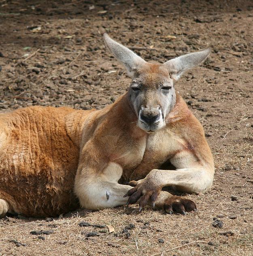
[[[148,61],[210,47],[205,64],[176,88],[204,126],[216,168],[212,189],[185,194],[198,205],[186,216],[149,208],[132,213],[133,205],[59,219],[6,217],[1,256],[253,255],[251,0],[1,0],[0,6],[0,111],[112,103],[130,79],[105,48],[104,31]],[[214,217],[222,228],[212,226]],[[30,234],[34,230],[53,233]],[[93,231],[96,236],[87,237]]]

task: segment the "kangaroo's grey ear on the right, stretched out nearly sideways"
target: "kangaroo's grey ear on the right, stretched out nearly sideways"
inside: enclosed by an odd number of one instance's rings
[[[210,49],[201,52],[193,52],[168,60],[162,66],[166,67],[174,80],[178,80],[183,72],[200,65],[210,54]]]

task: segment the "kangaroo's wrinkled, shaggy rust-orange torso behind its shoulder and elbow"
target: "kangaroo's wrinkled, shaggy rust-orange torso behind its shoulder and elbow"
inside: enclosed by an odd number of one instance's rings
[[[0,198],[29,216],[74,209],[77,145],[66,131],[68,108],[32,107],[0,115]]]

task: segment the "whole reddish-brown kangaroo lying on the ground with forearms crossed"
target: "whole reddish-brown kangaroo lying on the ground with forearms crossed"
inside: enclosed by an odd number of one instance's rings
[[[56,216],[80,206],[134,203],[139,211],[150,205],[185,214],[196,204],[162,188],[200,193],[212,185],[214,163],[203,128],[174,88],[210,50],[154,64],[107,34],[104,41],[132,78],[113,104],[0,114],[0,216]],[[160,170],[168,161],[174,170]]]

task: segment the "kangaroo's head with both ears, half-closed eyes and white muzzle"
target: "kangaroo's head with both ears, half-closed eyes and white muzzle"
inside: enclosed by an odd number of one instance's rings
[[[210,49],[205,49],[164,64],[153,64],[117,43],[108,34],[104,34],[104,41],[132,78],[128,90],[129,103],[138,118],[138,126],[147,132],[157,131],[166,125],[166,116],[176,103],[174,82],[184,71],[202,63],[210,53]]]

